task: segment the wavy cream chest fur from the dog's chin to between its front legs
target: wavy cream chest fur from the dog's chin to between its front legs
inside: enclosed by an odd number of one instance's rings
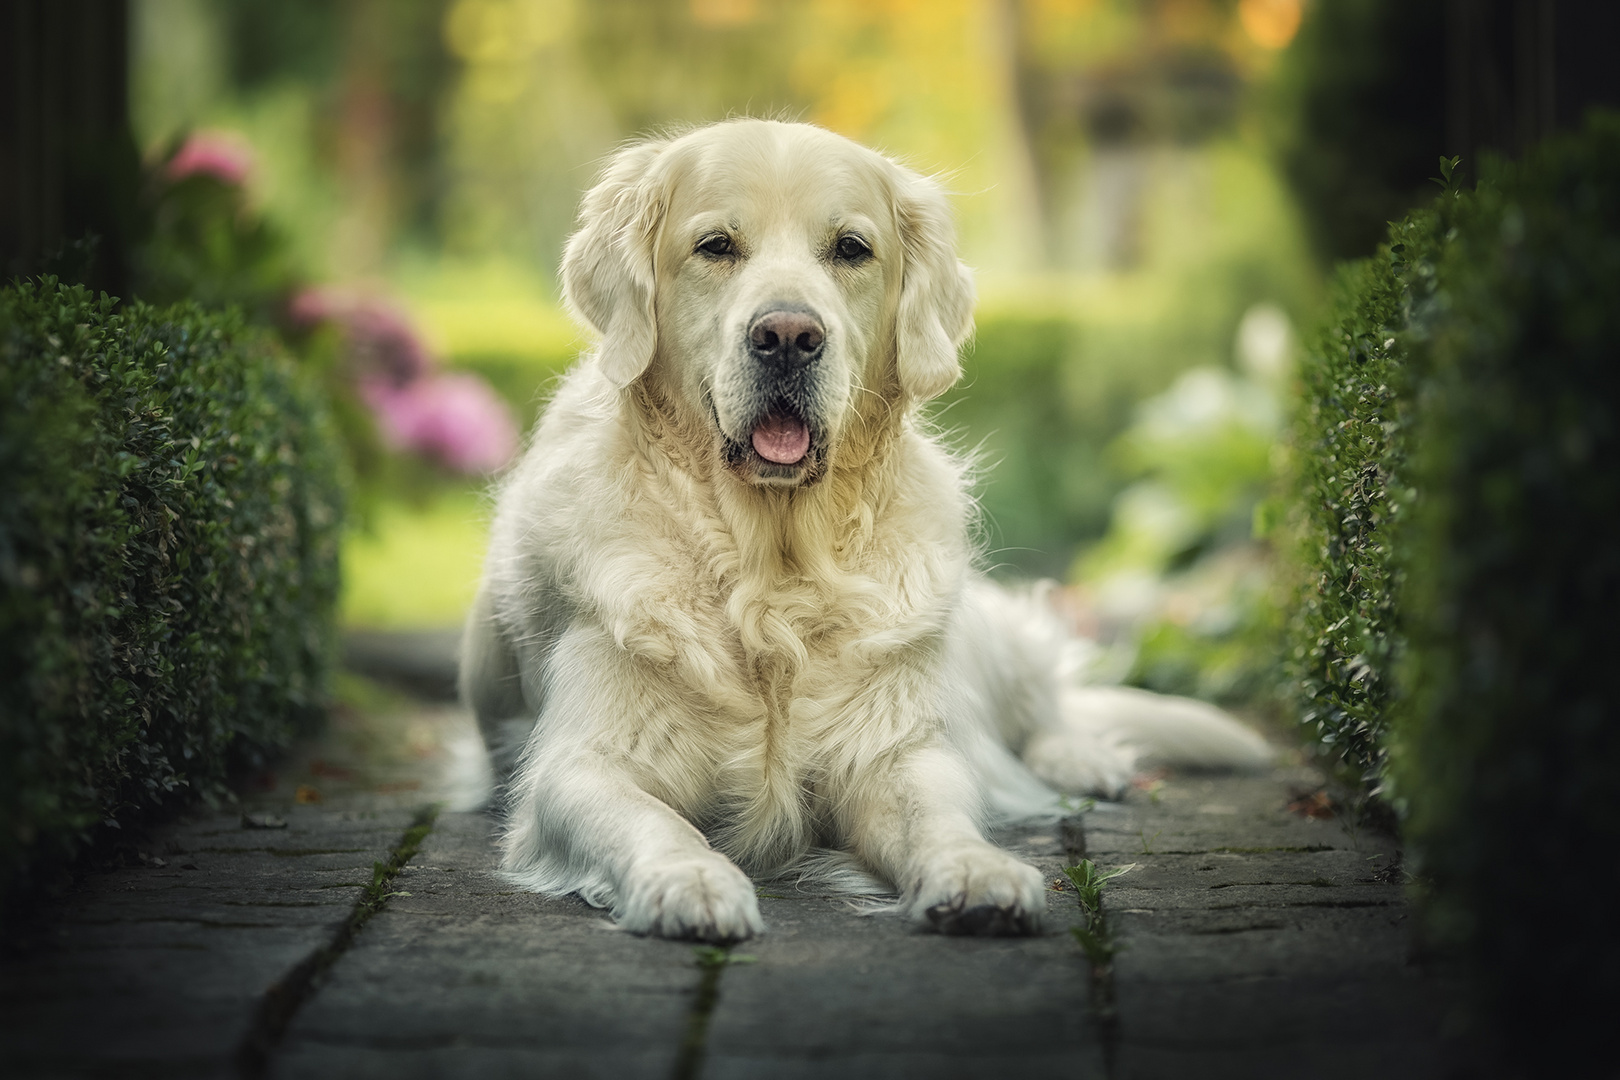
[[[899,669],[935,662],[967,567],[966,504],[949,455],[910,450],[936,455],[896,463],[912,491],[936,481],[928,513],[896,513],[883,483],[761,499],[646,457],[622,466],[642,473],[633,500],[598,473],[588,500],[575,487],[528,504],[549,507],[546,529],[582,512],[614,526],[590,563],[551,567],[570,622],[611,636],[614,685],[635,687],[632,708],[595,717],[598,745],[753,870],[836,844],[849,763],[933,735],[897,724],[915,709],[885,695]]]

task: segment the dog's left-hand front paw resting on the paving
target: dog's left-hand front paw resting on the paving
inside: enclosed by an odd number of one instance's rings
[[[637,873],[619,923],[637,934],[732,942],[765,929],[753,882],[724,855],[672,858]]]

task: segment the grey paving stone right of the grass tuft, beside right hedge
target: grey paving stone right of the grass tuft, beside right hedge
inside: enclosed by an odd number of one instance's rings
[[[1409,960],[1392,837],[1290,813],[1309,771],[1166,777],[1085,816],[1115,934],[1115,1077],[1432,1077],[1447,991]]]

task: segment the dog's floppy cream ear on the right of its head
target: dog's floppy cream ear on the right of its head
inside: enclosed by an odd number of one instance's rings
[[[974,274],[956,257],[951,204],[933,180],[899,168],[896,217],[906,269],[896,325],[901,390],[936,398],[962,377],[957,348],[974,329]]]

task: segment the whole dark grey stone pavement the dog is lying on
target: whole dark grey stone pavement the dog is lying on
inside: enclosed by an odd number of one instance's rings
[[[241,806],[87,874],[13,934],[0,1075],[1317,1080],[1445,1061],[1447,988],[1408,959],[1395,848],[1311,818],[1302,767],[1147,779],[1004,832],[1048,879],[1134,865],[1103,891],[1118,952],[1092,972],[1072,887],[1029,939],[778,884],[770,931],[729,954],[620,933],[492,873],[473,746],[450,706],[340,717]]]

